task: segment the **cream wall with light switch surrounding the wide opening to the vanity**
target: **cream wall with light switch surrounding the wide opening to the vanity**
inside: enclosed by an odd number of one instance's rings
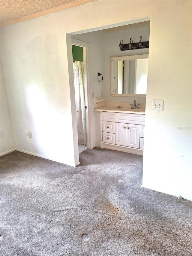
[[[76,165],[66,33],[151,17],[143,186],[192,200],[191,5],[191,1],[102,0],[1,28],[16,147]],[[175,42],[181,40],[179,47]],[[152,99],[164,99],[164,110],[152,110]],[[27,129],[34,134],[32,140],[24,135]]]

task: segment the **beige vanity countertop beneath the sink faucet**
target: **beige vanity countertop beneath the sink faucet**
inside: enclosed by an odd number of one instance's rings
[[[102,106],[102,107],[97,107],[94,108],[95,111],[106,111],[106,112],[118,112],[118,113],[134,113],[134,114],[143,114],[145,115],[145,109],[144,108],[139,108],[139,109],[133,109],[130,107],[121,107],[117,108],[118,105],[116,106]]]

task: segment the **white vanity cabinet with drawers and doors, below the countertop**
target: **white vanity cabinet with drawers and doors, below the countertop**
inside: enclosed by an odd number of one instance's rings
[[[143,155],[144,114],[100,112],[101,148]]]

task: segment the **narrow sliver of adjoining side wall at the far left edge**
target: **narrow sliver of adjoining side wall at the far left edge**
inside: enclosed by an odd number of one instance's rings
[[[0,129],[4,136],[0,138],[0,155],[5,155],[15,150],[13,128],[10,118],[7,93],[4,84],[4,76],[1,68],[1,123]]]

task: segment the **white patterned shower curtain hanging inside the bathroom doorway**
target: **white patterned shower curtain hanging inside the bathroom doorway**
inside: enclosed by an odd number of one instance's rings
[[[83,62],[73,62],[73,75],[75,85],[78,143],[79,145],[87,146]]]

